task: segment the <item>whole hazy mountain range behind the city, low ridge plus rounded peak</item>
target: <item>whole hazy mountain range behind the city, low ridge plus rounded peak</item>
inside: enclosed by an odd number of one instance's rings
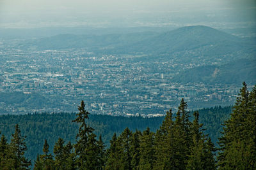
[[[239,50],[253,50],[251,46],[255,43],[250,42],[211,27],[198,25],[162,33],[137,32],[99,36],[60,34],[26,41],[21,46],[34,46],[39,50],[93,48],[95,52],[105,53],[173,53],[200,50],[201,55],[223,55]]]

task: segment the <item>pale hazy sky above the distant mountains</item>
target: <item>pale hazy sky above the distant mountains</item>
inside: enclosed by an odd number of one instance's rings
[[[0,26],[255,22],[255,7],[255,0],[0,0]]]

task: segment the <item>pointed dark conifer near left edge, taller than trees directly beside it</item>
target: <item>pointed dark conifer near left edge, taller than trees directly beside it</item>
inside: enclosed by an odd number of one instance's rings
[[[25,143],[26,136],[21,136],[19,125],[15,125],[15,132],[12,134],[10,143],[10,153],[12,159],[10,164],[13,169],[29,169],[31,166],[31,160],[26,159],[24,156],[27,146]]]

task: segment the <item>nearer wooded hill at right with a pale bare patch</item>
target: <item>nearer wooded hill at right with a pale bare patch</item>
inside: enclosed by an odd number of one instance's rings
[[[203,82],[241,85],[256,84],[256,59],[239,59],[221,66],[200,66],[182,71],[173,77],[180,83]]]

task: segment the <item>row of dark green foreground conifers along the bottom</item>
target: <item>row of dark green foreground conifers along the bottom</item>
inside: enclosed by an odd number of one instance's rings
[[[256,87],[251,92],[246,84],[216,148],[199,123],[198,111],[189,118],[187,103],[182,99],[175,114],[167,111],[156,132],[132,132],[124,129],[113,134],[106,149],[102,137],[86,124],[90,113],[84,102],[73,122],[79,125],[76,141],[59,138],[49,150],[44,140],[43,153],[38,154],[34,169],[255,169],[256,168]],[[15,126],[11,142],[4,135],[0,142],[0,169],[29,169],[31,160],[24,156],[27,150],[25,136]],[[218,155],[216,156],[216,151]]]

